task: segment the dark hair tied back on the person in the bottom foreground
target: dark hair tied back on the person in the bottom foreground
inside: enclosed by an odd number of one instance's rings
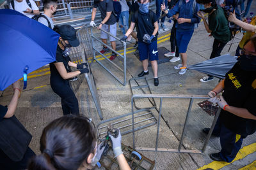
[[[41,154],[31,159],[29,170],[77,170],[95,147],[95,127],[86,117],[68,115],[53,120],[40,139]]]

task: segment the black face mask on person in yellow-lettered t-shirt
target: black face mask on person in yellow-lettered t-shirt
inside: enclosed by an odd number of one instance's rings
[[[240,67],[245,71],[256,71],[256,56],[241,55]]]

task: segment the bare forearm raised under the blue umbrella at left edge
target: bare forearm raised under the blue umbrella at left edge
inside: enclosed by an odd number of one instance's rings
[[[4,118],[10,118],[14,115],[15,110],[18,105],[18,99],[20,96],[20,81],[16,81],[15,83],[12,84],[13,87],[13,96],[12,100],[10,101],[10,104],[8,105],[8,110],[6,114],[4,115]]]

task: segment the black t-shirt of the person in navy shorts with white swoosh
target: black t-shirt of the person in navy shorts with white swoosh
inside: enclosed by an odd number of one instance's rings
[[[137,38],[139,39],[140,42],[143,42],[144,34],[148,34],[149,36],[152,36],[155,29],[154,22],[157,22],[157,17],[156,17],[156,13],[154,13],[151,10],[149,10],[147,14],[143,14],[140,11],[136,11],[134,15],[132,15],[131,21],[137,25],[138,27]],[[157,40],[157,35],[158,35],[158,32],[156,36],[152,39],[152,41]]]

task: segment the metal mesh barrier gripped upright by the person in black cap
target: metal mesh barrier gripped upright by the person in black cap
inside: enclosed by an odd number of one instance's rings
[[[73,62],[76,62],[77,64],[86,62],[88,64],[88,69],[90,70],[90,73],[80,74],[79,76],[77,76],[77,80],[70,81],[70,84],[72,86],[72,89],[74,89],[74,91],[77,91],[81,83],[83,82],[84,78],[86,78],[88,87],[93,97],[95,107],[97,109],[100,119],[102,120],[102,110],[100,106],[99,96],[97,94],[96,83],[94,81],[92,69],[90,67],[90,62],[88,61],[88,56],[92,56],[92,45],[90,43],[90,34],[87,34],[87,32],[88,29],[86,25],[84,25],[83,27],[81,27],[81,29],[77,31],[77,37],[79,38],[80,45],[77,47],[72,47],[72,51],[70,52],[69,56],[70,59]]]

